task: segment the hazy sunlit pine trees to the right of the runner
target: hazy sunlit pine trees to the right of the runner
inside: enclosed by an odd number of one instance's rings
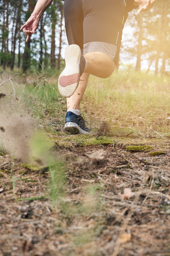
[[[122,44],[122,51],[129,60],[140,55],[141,65],[145,60],[148,62],[147,72],[149,68],[155,67],[163,74],[169,73],[169,35],[170,35],[170,17],[169,17],[170,4],[168,0],[157,0],[154,7],[147,11],[137,14],[136,10],[129,13],[129,18],[125,24],[124,32],[128,27],[133,27],[133,36],[130,38],[127,32],[127,39]],[[153,29],[156,28],[156,29]],[[162,38],[164,38],[162,40]],[[156,42],[156,43],[155,43]],[[141,44],[141,49],[138,45]],[[139,52],[140,51],[140,52]],[[165,65],[165,62],[167,65]]]

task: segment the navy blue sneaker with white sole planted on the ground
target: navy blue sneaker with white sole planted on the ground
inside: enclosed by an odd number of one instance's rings
[[[66,122],[63,130],[71,134],[91,133],[91,129],[86,127],[83,117],[71,111],[68,111],[66,114]]]

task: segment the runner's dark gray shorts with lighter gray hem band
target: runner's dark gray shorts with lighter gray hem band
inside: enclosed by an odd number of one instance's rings
[[[64,1],[69,45],[79,45],[83,54],[92,51],[104,52],[116,65],[127,17],[125,0]]]

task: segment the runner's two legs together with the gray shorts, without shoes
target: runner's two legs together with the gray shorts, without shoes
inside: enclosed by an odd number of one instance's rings
[[[81,76],[80,88],[78,86],[67,98],[69,110],[80,108],[88,73],[105,78],[115,69],[124,26],[125,1],[65,0],[64,6],[69,45],[79,45],[87,61],[87,73]]]

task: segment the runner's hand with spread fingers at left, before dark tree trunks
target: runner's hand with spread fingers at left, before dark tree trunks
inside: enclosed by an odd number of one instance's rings
[[[29,41],[32,34],[35,34],[35,30],[38,28],[39,21],[40,18],[38,17],[38,14],[32,13],[27,22],[20,28],[20,30],[23,29],[23,32],[27,36],[26,42]]]

